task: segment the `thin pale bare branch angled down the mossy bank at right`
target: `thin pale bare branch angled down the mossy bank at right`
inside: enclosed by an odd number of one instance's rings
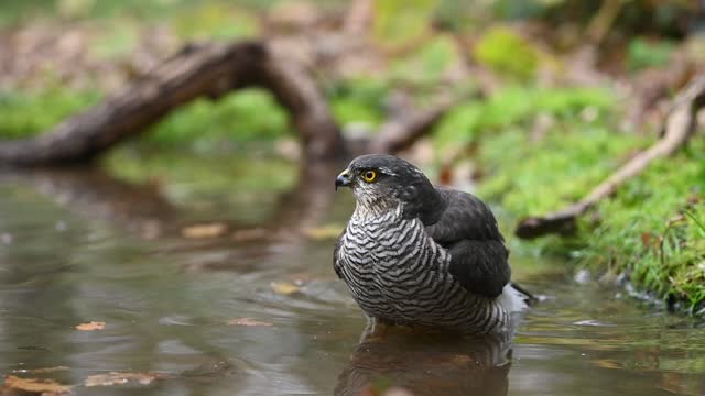
[[[697,112],[705,106],[705,76],[695,78],[676,96],[662,127],[661,139],[651,147],[632,157],[585,198],[567,208],[544,216],[529,217],[519,222],[514,233],[533,239],[549,233],[566,233],[575,229],[576,219],[599,200],[615,194],[625,182],[639,175],[657,158],[673,155],[695,132]]]

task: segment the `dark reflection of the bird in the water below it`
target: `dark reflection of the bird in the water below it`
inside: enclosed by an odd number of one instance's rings
[[[338,376],[337,396],[507,395],[512,333],[462,338],[388,329],[364,337]],[[390,393],[391,394],[391,393]]]

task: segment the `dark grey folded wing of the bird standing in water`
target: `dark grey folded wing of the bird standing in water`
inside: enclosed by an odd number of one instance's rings
[[[495,298],[511,277],[509,251],[491,210],[479,198],[438,188],[447,206],[426,233],[451,253],[449,272],[468,292]]]

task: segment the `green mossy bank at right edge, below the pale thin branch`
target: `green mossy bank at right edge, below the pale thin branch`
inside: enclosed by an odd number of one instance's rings
[[[698,308],[705,301],[704,160],[687,153],[661,160],[601,202],[600,224],[584,227],[590,241],[584,257],[629,270],[643,288]]]

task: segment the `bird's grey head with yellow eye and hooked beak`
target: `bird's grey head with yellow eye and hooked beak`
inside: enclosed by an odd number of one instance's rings
[[[362,209],[380,212],[398,208],[405,217],[424,217],[438,208],[440,195],[416,166],[393,155],[361,155],[335,179],[335,187],[350,187]]]

